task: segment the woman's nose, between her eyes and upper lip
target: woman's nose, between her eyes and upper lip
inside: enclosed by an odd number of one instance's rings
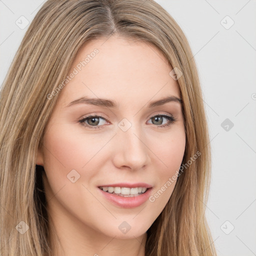
[[[146,137],[141,132],[139,125],[131,125],[123,131],[118,127],[115,135],[115,151],[113,164],[118,168],[129,167],[131,170],[144,168],[150,162],[146,145]]]

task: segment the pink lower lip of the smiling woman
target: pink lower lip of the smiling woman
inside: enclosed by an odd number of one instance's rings
[[[144,193],[136,195],[136,196],[131,196],[131,197],[124,197],[121,195],[116,195],[116,194],[110,194],[108,192],[105,192],[98,188],[102,195],[112,202],[113,204],[120,206],[122,208],[134,208],[138,207],[142,203],[144,203],[148,198],[151,193],[152,187],[148,188]]]

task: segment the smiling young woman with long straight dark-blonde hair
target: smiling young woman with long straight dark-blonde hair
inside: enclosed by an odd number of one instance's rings
[[[48,0],[0,94],[1,255],[216,255],[196,66],[153,0]]]

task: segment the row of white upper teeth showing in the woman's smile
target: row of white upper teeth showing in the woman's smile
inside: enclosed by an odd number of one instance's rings
[[[108,193],[115,193],[117,195],[129,197],[129,196],[136,196],[146,191],[146,187],[119,187],[119,186],[100,186],[101,190],[108,192]]]

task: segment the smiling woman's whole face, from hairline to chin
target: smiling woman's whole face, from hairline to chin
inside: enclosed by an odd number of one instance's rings
[[[171,70],[145,42],[112,36],[80,49],[36,160],[63,232],[133,238],[161,213],[185,149],[181,103],[160,101],[180,98]]]

